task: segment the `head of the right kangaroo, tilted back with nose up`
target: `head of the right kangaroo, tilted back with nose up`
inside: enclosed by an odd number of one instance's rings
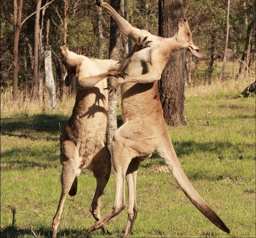
[[[184,49],[190,50],[192,54],[198,58],[202,58],[204,53],[192,41],[192,34],[190,32],[187,19],[181,18],[178,23],[178,32],[175,35],[176,40],[181,43]]]

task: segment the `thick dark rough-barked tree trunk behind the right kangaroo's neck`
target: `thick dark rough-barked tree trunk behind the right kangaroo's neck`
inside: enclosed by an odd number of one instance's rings
[[[178,22],[183,16],[183,0],[159,0],[159,27],[161,37],[173,37],[178,31]],[[166,123],[184,124],[184,52],[170,55],[158,84],[160,100]]]

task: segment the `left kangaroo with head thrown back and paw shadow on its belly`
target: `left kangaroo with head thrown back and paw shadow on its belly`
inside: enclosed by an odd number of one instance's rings
[[[61,196],[58,209],[52,221],[52,237],[57,236],[60,215],[67,194],[75,196],[78,175],[81,169],[93,172],[97,186],[90,212],[96,221],[100,216],[101,197],[111,172],[111,155],[104,144],[108,91],[106,77],[124,77],[121,72],[131,55],[139,49],[149,47],[148,42],[138,40],[132,51],[122,61],[92,59],[69,51],[60,46],[63,64],[66,66],[65,84],[69,86],[72,77],[77,80],[77,94],[71,118],[60,134]],[[107,233],[105,226],[102,227]]]

